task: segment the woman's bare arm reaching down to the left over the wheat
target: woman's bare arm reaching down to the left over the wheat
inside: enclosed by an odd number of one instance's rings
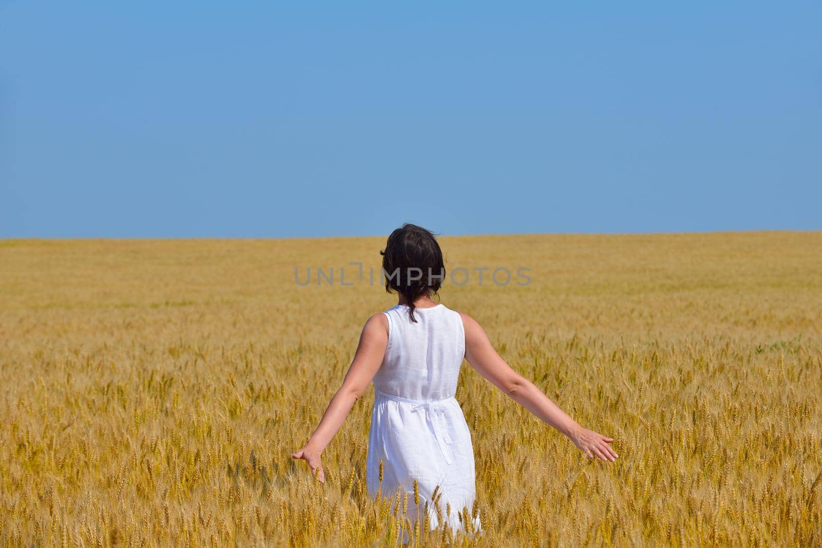
[[[335,436],[355,401],[363,395],[374,374],[380,368],[383,355],[388,345],[388,318],[383,313],[376,313],[368,318],[360,334],[357,352],[349,372],[345,374],[343,386],[331,398],[326,413],[323,414],[320,424],[308,440],[307,444],[291,456],[294,459],[303,459],[311,466],[312,474],[316,472],[317,479],[325,483],[326,473],[322,469],[321,454]]]

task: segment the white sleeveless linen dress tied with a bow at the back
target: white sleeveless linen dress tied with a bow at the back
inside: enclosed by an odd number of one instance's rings
[[[462,317],[444,304],[415,308],[417,323],[411,322],[404,304],[384,313],[389,336],[385,357],[373,378],[368,493],[376,497],[382,460],[382,494],[394,496],[398,486],[409,493],[406,515],[412,526],[417,518],[413,503],[416,478],[419,511],[423,512],[428,500],[431,528],[438,525],[431,495],[439,485],[442,518],[455,531],[465,531],[457,514],[465,505],[470,516],[476,482],[471,433],[454,397],[465,354]],[[450,515],[446,514],[447,503]],[[476,532],[482,531],[479,515],[473,524]],[[402,541],[407,542],[408,536]]]

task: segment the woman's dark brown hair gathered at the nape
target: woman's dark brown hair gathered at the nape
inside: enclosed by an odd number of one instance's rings
[[[446,279],[440,244],[436,243],[432,231],[407,222],[391,232],[386,249],[380,254],[386,292],[395,290],[404,295],[409,302],[411,321],[416,322],[414,301],[423,295],[436,295]]]

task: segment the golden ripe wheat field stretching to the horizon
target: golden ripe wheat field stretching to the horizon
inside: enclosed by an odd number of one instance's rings
[[[455,546],[822,546],[822,233],[440,242],[449,269],[529,269],[441,302],[620,454],[585,459],[463,363],[484,533]],[[367,496],[372,388],[324,484],[291,458],[396,304],[384,244],[0,240],[0,542],[440,546],[413,495]]]

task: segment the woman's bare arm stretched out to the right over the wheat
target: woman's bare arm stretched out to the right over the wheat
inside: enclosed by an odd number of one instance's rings
[[[465,328],[465,359],[472,368],[537,418],[568,436],[589,459],[594,456],[611,462],[617,459],[617,453],[608,445],[612,438],[581,427],[543,394],[543,390],[510,368],[472,317],[466,313],[459,315]]]

